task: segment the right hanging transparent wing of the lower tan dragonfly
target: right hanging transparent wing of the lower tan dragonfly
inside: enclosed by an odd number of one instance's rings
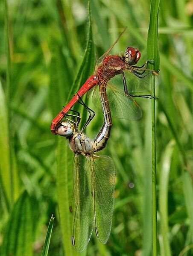
[[[115,166],[109,156],[92,155],[90,158],[94,188],[95,232],[105,244],[109,238],[114,210]]]

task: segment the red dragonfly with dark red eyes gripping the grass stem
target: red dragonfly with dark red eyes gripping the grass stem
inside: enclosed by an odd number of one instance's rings
[[[64,118],[79,98],[91,90],[91,88],[94,88],[92,101],[99,110],[102,111],[101,94],[105,88],[113,117],[128,120],[137,120],[142,117],[140,106],[133,97],[151,98],[152,95],[134,95],[133,93],[150,92],[152,76],[155,77],[155,85],[160,83],[160,77],[158,72],[146,68],[147,63],[152,61],[146,60],[142,66],[134,66],[141,56],[137,48],[128,47],[125,55],[108,55],[121,35],[123,35],[123,32],[114,44],[97,60],[94,74],[87,79],[70,102],[53,119],[50,126],[53,134],[58,133],[57,129],[62,118]],[[88,122],[92,118],[93,116],[88,119]]]

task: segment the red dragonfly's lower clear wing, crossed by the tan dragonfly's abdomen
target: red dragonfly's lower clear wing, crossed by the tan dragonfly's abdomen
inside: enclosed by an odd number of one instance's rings
[[[124,93],[123,78],[121,77],[123,77],[122,74],[114,77],[113,82],[116,82],[117,86],[115,86],[110,80],[106,88],[111,115],[115,118],[138,120],[142,117],[142,111],[136,100],[132,97],[126,96]],[[97,109],[102,111],[99,86],[94,88],[92,101]]]

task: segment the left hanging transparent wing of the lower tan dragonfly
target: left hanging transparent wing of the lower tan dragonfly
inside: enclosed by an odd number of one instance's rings
[[[81,154],[74,158],[73,182],[72,242],[76,251],[81,253],[85,250],[94,227],[91,171],[86,157]]]

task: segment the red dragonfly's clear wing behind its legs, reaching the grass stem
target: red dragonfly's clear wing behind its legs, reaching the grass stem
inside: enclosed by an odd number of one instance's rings
[[[158,86],[161,82],[160,76],[157,72],[149,73],[149,70],[145,70],[143,73],[143,78],[139,78],[135,76],[131,72],[131,70],[124,71],[127,83],[127,90],[130,94],[138,93],[138,92],[147,92],[148,94],[151,93],[151,83],[152,77],[155,78],[155,86]],[[113,79],[112,79],[113,80]]]

